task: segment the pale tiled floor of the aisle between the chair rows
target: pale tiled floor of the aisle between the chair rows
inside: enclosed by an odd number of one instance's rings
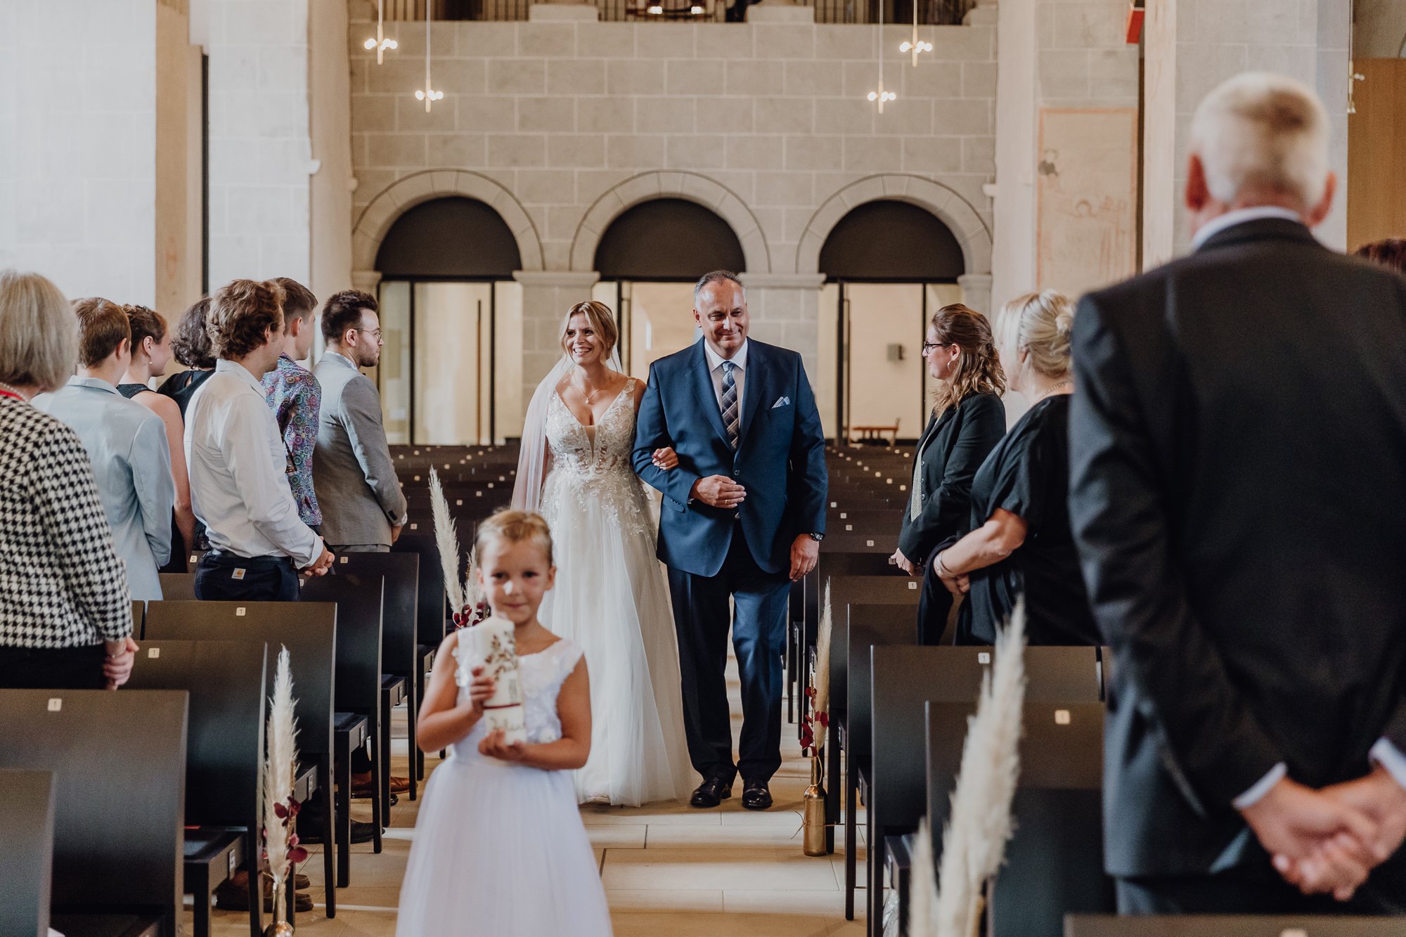
[[[735,737],[741,722],[735,665],[730,665],[730,688]],[[394,715],[392,732],[394,772],[404,775],[408,764],[404,708]],[[582,820],[600,861],[616,937],[853,937],[865,933],[863,892],[856,898],[858,919],[846,922],[844,917],[842,854],[837,850],[832,857],[808,858],[801,853],[800,808],[810,765],[794,744],[792,726],[783,729],[782,746],[785,764],[772,779],[776,803],[766,812],[744,810],[737,796],[740,785],[734,785],[733,799],[716,810],[696,810],[688,803],[582,808]],[[433,770],[434,764],[437,758],[430,758],[427,767]],[[370,844],[353,847],[352,886],[337,892],[335,919],[323,916],[321,858],[308,861],[302,871],[312,878],[316,909],[298,914],[299,936],[395,934],[395,906],[418,806],[418,801],[401,798],[391,812],[392,829],[380,855],[371,853]],[[353,810],[357,819],[370,819],[364,801],[356,802]],[[842,843],[844,837],[837,836],[837,840]],[[860,881],[862,860],[860,847]],[[215,937],[249,933],[246,914],[217,910],[214,922]],[[190,927],[187,910],[187,934]],[[464,937],[477,936],[470,927]]]

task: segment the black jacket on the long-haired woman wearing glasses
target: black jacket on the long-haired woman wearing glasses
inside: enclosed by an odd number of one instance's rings
[[[928,421],[917,452],[922,512],[911,518],[904,505],[898,533],[898,549],[910,563],[921,564],[946,537],[966,529],[972,477],[1002,435],[1005,405],[995,394],[967,394]]]

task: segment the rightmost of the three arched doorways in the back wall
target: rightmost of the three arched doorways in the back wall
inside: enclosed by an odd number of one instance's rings
[[[927,208],[868,201],[835,222],[820,249],[821,416],[837,439],[891,431],[917,439],[932,385],[922,339],[932,312],[962,301],[962,245]]]

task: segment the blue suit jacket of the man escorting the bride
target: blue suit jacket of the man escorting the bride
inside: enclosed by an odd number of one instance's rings
[[[679,454],[672,471],[651,461],[664,446]],[[787,570],[792,542],[801,533],[824,533],[828,488],[825,436],[800,355],[748,339],[735,452],[703,340],[657,360],[640,402],[634,470],[664,492],[658,556],[671,568],[717,575],[740,526],[762,570]],[[689,502],[693,483],[707,476],[737,480],[747,499],[733,509]]]

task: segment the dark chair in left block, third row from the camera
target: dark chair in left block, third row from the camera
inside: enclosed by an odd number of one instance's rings
[[[240,865],[249,874],[249,933],[263,933],[259,801],[269,665],[263,642],[148,640],[127,684],[190,694],[184,853],[195,937],[209,936],[209,900]]]

